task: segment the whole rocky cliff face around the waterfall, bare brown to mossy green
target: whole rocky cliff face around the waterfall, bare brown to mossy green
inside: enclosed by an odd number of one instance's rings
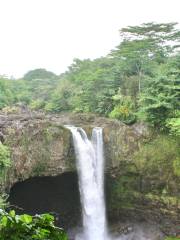
[[[0,188],[8,191],[31,177],[76,171],[72,136],[65,125],[82,127],[89,137],[93,127],[103,127],[109,218],[152,220],[161,224],[165,234],[180,234],[180,178],[173,175],[172,154],[165,160],[170,163],[164,165],[169,168],[167,175],[163,162],[156,171],[154,152],[155,165],[149,156],[142,157],[139,169],[135,164],[135,153],[151,139],[143,124],[127,126],[90,114],[0,114],[0,141],[9,146],[12,160]]]

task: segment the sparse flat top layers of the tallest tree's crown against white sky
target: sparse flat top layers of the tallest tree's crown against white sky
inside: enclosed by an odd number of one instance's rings
[[[153,57],[169,56],[177,52],[180,47],[180,30],[176,29],[178,23],[144,23],[140,26],[129,26],[120,31],[124,40],[146,40]]]

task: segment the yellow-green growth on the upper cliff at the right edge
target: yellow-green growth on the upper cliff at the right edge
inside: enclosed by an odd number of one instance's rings
[[[162,191],[174,188],[171,183],[180,174],[180,142],[177,138],[160,135],[142,145],[134,155],[137,170],[142,178],[157,178],[154,188]],[[172,189],[171,189],[172,190]],[[177,187],[176,190],[178,191]],[[171,191],[172,192],[172,191]]]

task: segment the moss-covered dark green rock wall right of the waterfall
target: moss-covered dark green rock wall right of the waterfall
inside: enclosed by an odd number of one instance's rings
[[[155,221],[167,235],[180,234],[180,142],[166,135],[141,144],[129,161],[121,161],[108,180],[108,213]],[[179,159],[179,160],[178,160]]]

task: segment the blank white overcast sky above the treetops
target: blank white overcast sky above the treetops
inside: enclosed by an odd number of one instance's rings
[[[119,29],[180,23],[180,0],[0,0],[0,74],[64,72],[73,58],[105,56]]]

